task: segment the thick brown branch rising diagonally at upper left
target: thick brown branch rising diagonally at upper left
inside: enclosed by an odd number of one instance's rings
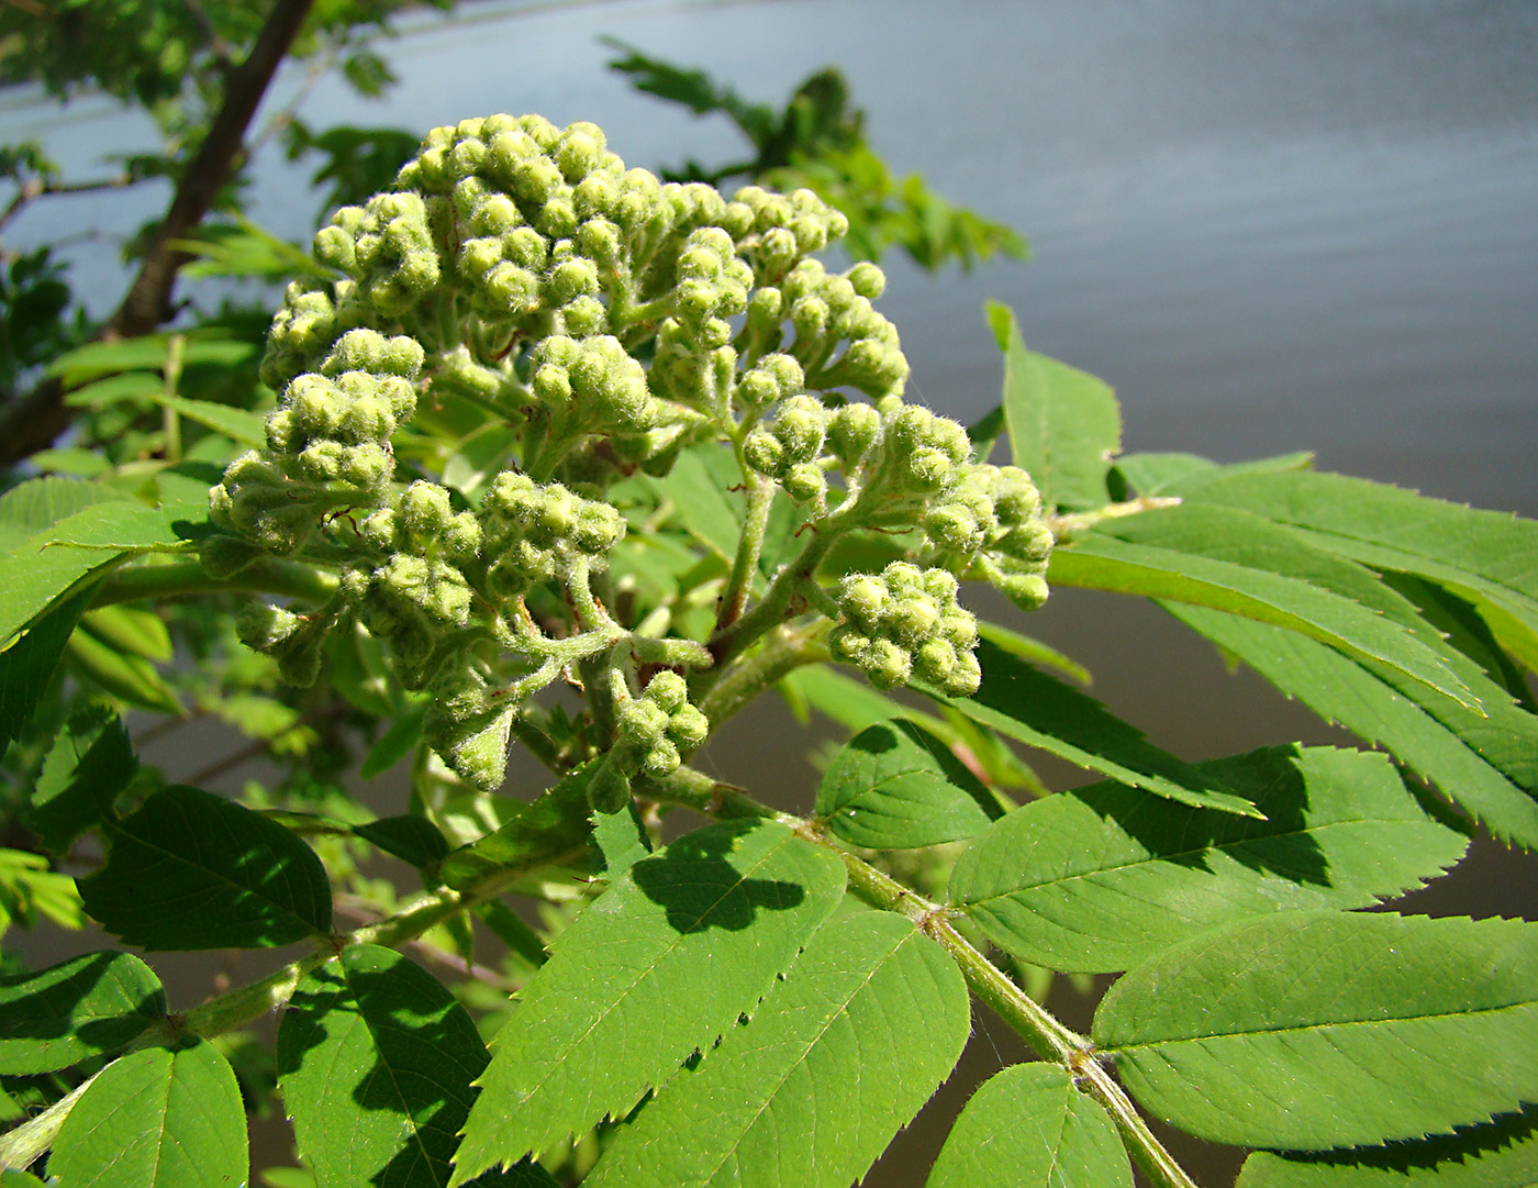
[[[257,105],[312,5],[314,0],[275,0],[272,5],[251,54],[229,74],[225,103],[209,125],[197,155],[183,171],[181,183],[145,254],[138,275],[98,339],[132,339],[171,320],[175,312],[171,291],[175,288],[177,272],[192,259],[174,245],[192,235],[218,191],[234,177],[245,155],[246,129]],[[0,466],[46,449],[69,426],[71,415],[63,385],[57,379],[42,380],[0,415]]]

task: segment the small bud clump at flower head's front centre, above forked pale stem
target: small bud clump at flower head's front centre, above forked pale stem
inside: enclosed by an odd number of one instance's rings
[[[624,520],[608,503],[583,499],[560,483],[540,486],[526,474],[503,471],[481,503],[486,585],[509,599],[574,569],[597,572],[624,539]]]

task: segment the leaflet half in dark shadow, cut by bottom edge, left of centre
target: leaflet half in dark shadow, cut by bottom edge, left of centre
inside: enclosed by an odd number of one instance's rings
[[[441,1188],[486,1068],[469,1013],[378,945],[312,971],[278,1028],[283,1100],[317,1188]]]

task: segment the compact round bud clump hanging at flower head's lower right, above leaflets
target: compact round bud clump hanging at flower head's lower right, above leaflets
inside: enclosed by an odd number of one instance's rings
[[[889,689],[917,677],[957,697],[977,692],[977,619],[957,605],[949,571],[892,562],[880,574],[851,574],[837,597],[844,619],[829,651],[864,669],[872,685]]]

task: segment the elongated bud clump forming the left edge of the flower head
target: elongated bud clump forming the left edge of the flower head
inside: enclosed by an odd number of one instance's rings
[[[209,492],[215,525],[268,552],[298,551],[332,512],[389,496],[391,435],[417,406],[421,348],[351,329],[297,377],[266,420],[268,448],[235,459]]]

